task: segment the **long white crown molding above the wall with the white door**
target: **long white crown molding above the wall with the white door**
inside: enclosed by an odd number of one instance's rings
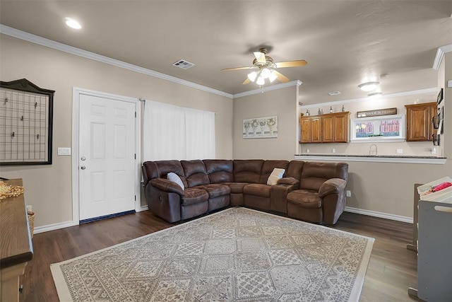
[[[145,69],[143,67],[136,66],[136,65],[133,65],[133,64],[129,64],[129,63],[126,63],[126,62],[122,62],[122,61],[119,61],[117,59],[112,59],[112,58],[109,58],[109,57],[105,57],[105,56],[102,56],[100,54],[95,54],[94,52],[88,52],[86,50],[81,50],[80,48],[69,46],[69,45],[66,45],[66,44],[63,44],[63,43],[60,43],[60,42],[55,42],[53,40],[49,40],[49,39],[46,39],[44,37],[40,37],[38,35],[32,35],[30,33],[24,32],[22,30],[17,30],[16,28],[10,28],[10,27],[8,27],[6,25],[3,25],[3,24],[0,24],[0,33],[3,33],[4,35],[9,35],[11,37],[16,37],[16,38],[18,38],[20,40],[25,40],[25,41],[28,41],[28,42],[32,42],[32,43],[35,43],[37,45],[42,45],[42,46],[45,46],[45,47],[49,47],[49,48],[52,48],[54,50],[59,50],[61,52],[74,54],[74,55],[76,55],[78,57],[84,57],[86,59],[92,59],[92,60],[97,61],[97,62],[102,62],[102,63],[109,64],[109,65],[112,65],[112,66],[117,66],[117,67],[120,67],[120,68],[123,68],[123,69],[129,69],[131,71],[135,71],[135,72],[138,72],[140,74],[153,76],[153,77],[158,78],[158,79],[163,79],[163,80],[170,81],[170,82],[173,82],[173,83],[178,83],[178,84],[181,84],[181,85],[184,85],[184,86],[189,86],[191,88],[195,88],[195,89],[198,89],[198,90],[201,90],[201,91],[206,91],[208,93],[214,93],[214,94],[217,94],[217,95],[221,95],[221,96],[224,96],[226,98],[233,98],[233,95],[230,94],[230,93],[225,93],[225,92],[219,91],[217,89],[213,89],[213,88],[210,88],[210,87],[207,87],[207,86],[203,86],[203,85],[200,85],[200,84],[197,84],[197,83],[193,83],[193,82],[190,82],[190,81],[179,79],[179,78],[176,78],[175,76],[169,76],[167,74],[162,74],[162,73],[160,73],[158,71],[153,71],[151,69]]]

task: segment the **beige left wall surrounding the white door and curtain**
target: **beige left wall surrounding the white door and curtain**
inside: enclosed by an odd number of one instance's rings
[[[0,167],[0,175],[5,178],[23,178],[25,201],[36,212],[36,227],[72,221],[71,156],[57,156],[57,148],[71,147],[74,86],[216,112],[216,156],[232,158],[230,98],[6,35],[0,35],[0,54],[1,81],[25,78],[56,91],[52,165]]]

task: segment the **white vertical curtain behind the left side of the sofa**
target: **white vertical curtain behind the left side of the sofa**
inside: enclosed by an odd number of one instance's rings
[[[215,158],[215,112],[146,100],[143,161]]]

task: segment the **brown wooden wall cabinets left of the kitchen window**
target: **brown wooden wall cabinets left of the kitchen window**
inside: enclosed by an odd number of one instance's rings
[[[350,112],[300,117],[299,143],[347,143]]]

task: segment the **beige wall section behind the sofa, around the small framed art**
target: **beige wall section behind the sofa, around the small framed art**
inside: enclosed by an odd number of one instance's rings
[[[234,98],[234,158],[294,159],[298,145],[297,93],[298,87],[291,86]],[[243,120],[275,115],[278,116],[278,138],[243,138]]]

